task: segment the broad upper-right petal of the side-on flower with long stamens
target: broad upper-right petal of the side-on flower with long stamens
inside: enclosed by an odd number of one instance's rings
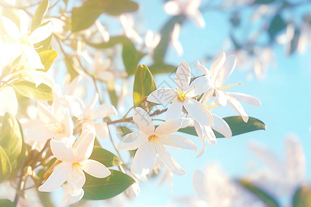
[[[225,63],[223,64],[223,67],[219,70],[215,85],[222,86],[223,83],[225,83],[228,77],[232,74],[235,67],[236,67],[236,56],[230,55],[229,57],[227,57]]]

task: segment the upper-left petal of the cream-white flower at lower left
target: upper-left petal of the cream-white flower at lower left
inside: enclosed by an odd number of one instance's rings
[[[60,161],[73,161],[73,149],[64,144],[64,142],[51,139],[50,149],[52,150],[53,155]]]

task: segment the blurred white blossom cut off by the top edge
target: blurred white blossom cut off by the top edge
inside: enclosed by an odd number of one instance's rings
[[[167,14],[184,14],[186,17],[196,23],[199,28],[205,28],[205,21],[202,13],[198,9],[201,0],[171,0],[164,4],[164,10]]]

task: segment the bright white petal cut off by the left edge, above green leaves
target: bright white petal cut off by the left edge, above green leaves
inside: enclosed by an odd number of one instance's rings
[[[19,103],[15,91],[11,86],[4,87],[0,90],[0,116],[3,116],[6,112],[15,116],[17,114],[17,108]]]

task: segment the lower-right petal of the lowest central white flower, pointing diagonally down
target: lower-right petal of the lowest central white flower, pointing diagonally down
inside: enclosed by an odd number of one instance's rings
[[[156,144],[156,149],[160,159],[163,161],[164,165],[171,170],[176,175],[185,175],[186,172],[182,167],[178,164],[178,162],[169,154],[169,152],[162,148],[159,144]]]

